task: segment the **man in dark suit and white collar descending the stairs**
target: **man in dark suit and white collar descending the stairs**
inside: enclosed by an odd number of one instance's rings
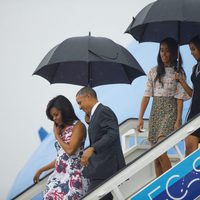
[[[90,116],[90,146],[81,157],[83,175],[90,179],[90,191],[123,168],[125,160],[114,112],[98,102],[96,92],[90,87],[80,89],[76,94],[76,101],[79,108]],[[112,195],[109,193],[102,199],[112,199]]]

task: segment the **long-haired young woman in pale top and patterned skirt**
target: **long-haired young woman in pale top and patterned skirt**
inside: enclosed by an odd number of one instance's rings
[[[175,73],[180,72],[185,79],[185,72],[181,66],[177,67],[178,44],[172,38],[166,38],[160,43],[158,66],[148,73],[148,80],[142,98],[138,119],[138,131],[143,127],[143,116],[150,97],[153,97],[152,109],[149,117],[149,141],[156,144],[172,131],[180,127],[183,100],[189,98],[181,84],[176,81]],[[167,153],[155,160],[157,177],[171,168]]]

